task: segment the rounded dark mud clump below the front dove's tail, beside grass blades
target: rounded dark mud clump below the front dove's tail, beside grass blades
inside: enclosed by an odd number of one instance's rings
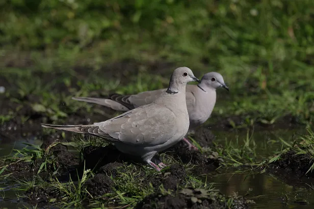
[[[109,176],[98,173],[92,179],[87,180],[84,187],[92,197],[98,197],[112,192],[114,182]]]

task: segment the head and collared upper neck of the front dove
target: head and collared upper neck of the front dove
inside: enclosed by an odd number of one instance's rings
[[[174,70],[171,75],[168,93],[177,93],[180,91],[185,92],[185,87],[188,82],[197,81],[200,83],[200,80],[196,78],[190,68],[181,67]]]

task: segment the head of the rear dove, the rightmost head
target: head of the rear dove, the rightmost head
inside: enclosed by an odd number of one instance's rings
[[[201,83],[199,85],[201,85],[201,87],[207,86],[207,87],[212,87],[214,89],[219,88],[219,87],[224,87],[225,89],[227,89],[227,91],[229,91],[229,88],[225,84],[225,81],[223,80],[222,75],[216,72],[206,73],[202,77]]]

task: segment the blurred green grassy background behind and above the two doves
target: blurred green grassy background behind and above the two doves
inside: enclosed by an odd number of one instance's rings
[[[311,0],[12,0],[0,8],[2,75],[17,89],[43,87],[44,74],[54,78],[51,94],[60,83],[79,96],[132,94],[165,87],[187,66],[198,77],[220,72],[229,85],[214,115],[314,118]]]

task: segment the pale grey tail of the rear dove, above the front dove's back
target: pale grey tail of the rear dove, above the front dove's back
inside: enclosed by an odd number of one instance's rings
[[[82,102],[99,104],[99,105],[106,106],[111,109],[123,111],[123,112],[130,110],[130,108],[119,103],[118,101],[115,101],[114,100],[115,98],[102,99],[102,98],[93,98],[93,97],[72,97],[72,99],[77,100],[77,101],[82,101]]]

